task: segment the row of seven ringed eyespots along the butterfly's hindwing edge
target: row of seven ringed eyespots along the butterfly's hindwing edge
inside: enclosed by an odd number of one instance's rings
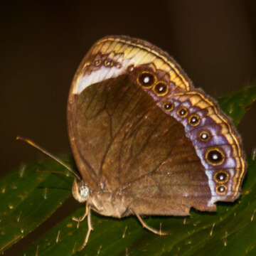
[[[174,103],[173,102],[165,102],[162,107],[164,110],[171,112],[174,110]],[[178,107],[177,114],[181,118],[186,118],[188,120],[188,123],[191,124],[191,126],[196,127],[200,124],[201,119],[198,114],[191,114],[188,115],[188,110],[186,107]],[[198,134],[198,139],[201,140],[201,142],[208,142],[211,139],[212,135],[210,132],[206,129],[201,131]],[[223,164],[225,161],[225,154],[223,153],[223,150],[219,149],[218,147],[212,147],[206,151],[205,159],[211,166],[219,166]],[[227,192],[227,186],[225,186],[224,183],[228,182],[229,174],[227,171],[217,171],[214,175],[214,181],[217,183],[217,186],[215,187],[216,193],[219,195],[225,195]]]

